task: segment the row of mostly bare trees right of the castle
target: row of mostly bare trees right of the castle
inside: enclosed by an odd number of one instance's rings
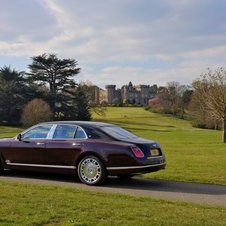
[[[149,101],[151,111],[171,114],[192,121],[200,128],[222,129],[226,142],[226,70],[208,69],[191,86],[167,83]]]

